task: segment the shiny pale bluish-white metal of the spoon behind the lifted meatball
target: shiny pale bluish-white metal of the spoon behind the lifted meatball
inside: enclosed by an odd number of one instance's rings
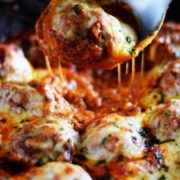
[[[135,16],[140,40],[152,35],[161,27],[172,0],[119,0],[127,4]]]

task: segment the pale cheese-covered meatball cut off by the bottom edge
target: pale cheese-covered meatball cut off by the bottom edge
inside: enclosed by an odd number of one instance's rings
[[[69,163],[52,162],[42,167],[34,167],[12,180],[91,180],[89,174],[80,166]]]

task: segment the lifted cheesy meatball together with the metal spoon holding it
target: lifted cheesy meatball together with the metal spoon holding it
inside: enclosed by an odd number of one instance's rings
[[[112,69],[156,36],[171,0],[52,0],[36,24],[50,62]]]

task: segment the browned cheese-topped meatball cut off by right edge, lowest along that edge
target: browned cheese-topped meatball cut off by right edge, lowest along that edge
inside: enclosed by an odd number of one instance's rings
[[[180,100],[170,100],[157,107],[148,124],[159,140],[176,138],[180,128]]]

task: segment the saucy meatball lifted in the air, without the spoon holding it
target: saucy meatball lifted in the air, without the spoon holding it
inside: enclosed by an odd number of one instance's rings
[[[103,8],[106,4],[109,10]],[[109,13],[111,4],[112,1],[52,0],[36,24],[39,43],[50,61],[111,69],[131,59],[136,32]]]

